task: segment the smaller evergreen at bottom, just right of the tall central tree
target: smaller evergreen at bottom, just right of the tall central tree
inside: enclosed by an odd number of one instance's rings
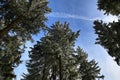
[[[77,49],[77,61],[79,61],[79,71],[81,73],[82,80],[96,80],[98,74],[100,74],[100,68],[97,66],[95,60],[88,61],[87,54],[83,52],[80,47]],[[77,62],[76,61],[76,62]]]

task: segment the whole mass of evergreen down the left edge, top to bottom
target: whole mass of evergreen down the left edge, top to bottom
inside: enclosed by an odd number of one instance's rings
[[[47,4],[47,0],[0,0],[0,76],[4,80],[15,77],[13,69],[21,62],[25,41],[45,28]]]

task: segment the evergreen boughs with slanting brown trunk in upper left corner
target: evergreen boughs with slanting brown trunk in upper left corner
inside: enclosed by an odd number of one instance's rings
[[[38,33],[41,27],[45,27],[45,13],[50,11],[47,3],[47,0],[1,0],[0,37],[9,31],[27,39]]]

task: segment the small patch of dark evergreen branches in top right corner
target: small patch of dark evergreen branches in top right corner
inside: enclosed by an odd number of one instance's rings
[[[105,14],[119,15],[119,0],[98,0],[98,9],[105,11]]]

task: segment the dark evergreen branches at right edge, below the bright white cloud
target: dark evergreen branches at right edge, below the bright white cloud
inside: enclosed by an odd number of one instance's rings
[[[95,32],[98,34],[96,43],[104,46],[110,56],[120,58],[120,21],[109,24],[95,21],[94,24]]]

